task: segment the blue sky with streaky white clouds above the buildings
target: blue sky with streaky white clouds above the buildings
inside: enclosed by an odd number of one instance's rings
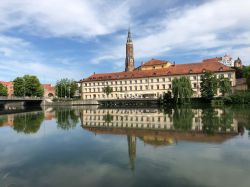
[[[250,65],[249,10],[250,0],[0,0],[0,80],[124,71],[129,27],[136,66],[225,54]]]

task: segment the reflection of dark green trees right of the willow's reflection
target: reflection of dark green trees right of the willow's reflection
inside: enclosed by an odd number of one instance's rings
[[[202,110],[203,132],[214,134],[215,132],[226,132],[227,129],[231,129],[233,123],[232,111],[230,109],[220,110],[222,110],[220,116],[214,108]]]

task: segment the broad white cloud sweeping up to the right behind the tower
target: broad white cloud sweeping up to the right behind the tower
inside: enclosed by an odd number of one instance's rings
[[[178,50],[190,54],[193,51],[214,53],[214,50],[218,52],[218,48],[224,52],[225,49],[235,49],[240,45],[249,46],[249,10],[250,1],[245,0],[213,0],[201,5],[177,8],[175,11],[167,10],[166,14],[151,24],[145,24],[145,27],[139,25],[140,30],[135,28],[136,32],[142,33],[135,33],[135,57],[144,59],[168,56]],[[152,29],[153,26],[155,29]],[[147,31],[146,35],[144,30]],[[115,54],[117,60],[121,60],[125,57],[124,49],[125,44],[118,43],[112,50],[104,50],[105,54],[99,55],[108,57]],[[240,56],[238,50],[234,51],[233,55]],[[250,63],[250,58],[245,57],[245,60]]]

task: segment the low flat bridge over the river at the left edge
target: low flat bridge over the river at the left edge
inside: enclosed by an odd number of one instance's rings
[[[40,106],[44,98],[42,97],[3,97],[0,96],[0,108],[11,109],[24,106]]]

